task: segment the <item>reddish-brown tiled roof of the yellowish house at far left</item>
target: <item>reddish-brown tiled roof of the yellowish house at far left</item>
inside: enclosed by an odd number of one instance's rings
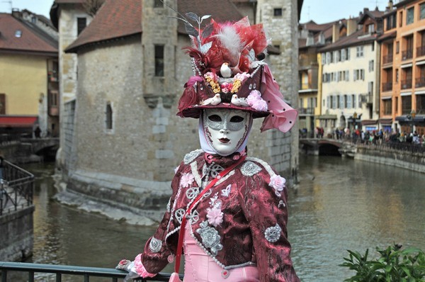
[[[21,30],[21,37],[16,36]],[[57,41],[26,21],[0,13],[0,52],[30,52],[32,55],[57,56]]]

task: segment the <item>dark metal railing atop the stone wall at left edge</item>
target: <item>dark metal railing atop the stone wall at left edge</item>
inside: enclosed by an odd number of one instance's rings
[[[0,215],[33,205],[34,175],[6,160],[0,171]]]

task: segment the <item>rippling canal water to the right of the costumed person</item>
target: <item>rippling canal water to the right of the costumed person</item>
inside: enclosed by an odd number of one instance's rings
[[[375,256],[393,242],[425,249],[424,174],[338,157],[300,156],[290,242],[302,281],[343,281],[347,249]]]

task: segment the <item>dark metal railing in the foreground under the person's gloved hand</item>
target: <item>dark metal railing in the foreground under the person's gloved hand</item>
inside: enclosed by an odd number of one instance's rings
[[[103,277],[109,278],[108,281],[118,282],[118,279],[123,279],[127,275],[126,271],[118,269],[106,269],[100,267],[86,266],[64,266],[53,264],[30,264],[23,262],[6,262],[0,261],[1,282],[7,282],[8,273],[11,271],[20,271],[28,273],[28,282],[36,281],[35,273],[52,273],[55,276],[56,282],[62,281],[62,276],[82,276],[84,282],[89,282],[90,278]],[[137,278],[135,281],[169,281],[171,273],[158,273],[152,278]],[[183,280],[183,275],[180,275]]]

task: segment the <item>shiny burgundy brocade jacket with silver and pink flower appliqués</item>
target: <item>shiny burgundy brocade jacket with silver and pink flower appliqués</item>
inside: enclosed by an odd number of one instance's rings
[[[164,218],[141,256],[149,273],[172,261],[184,212],[205,183],[239,158],[232,156],[186,154],[171,182]],[[284,183],[266,162],[247,157],[196,203],[187,220],[191,237],[223,270],[256,265],[260,281],[299,281],[290,259]]]

